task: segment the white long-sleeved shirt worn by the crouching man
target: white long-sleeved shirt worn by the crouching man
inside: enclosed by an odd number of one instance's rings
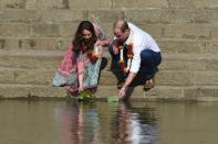
[[[128,23],[131,34],[125,44],[133,44],[133,59],[129,71],[137,74],[141,67],[141,52],[144,49],[152,49],[154,52],[160,52],[155,40],[145,31],[141,30],[136,25]]]

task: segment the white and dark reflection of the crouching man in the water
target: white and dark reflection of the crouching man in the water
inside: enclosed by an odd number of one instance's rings
[[[141,108],[142,109],[142,108]],[[141,111],[142,112],[142,111]],[[156,144],[157,132],[155,119],[145,108],[141,113],[137,109],[131,109],[128,104],[120,104],[117,112],[117,143]]]

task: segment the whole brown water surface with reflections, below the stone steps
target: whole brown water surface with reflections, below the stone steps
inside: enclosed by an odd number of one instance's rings
[[[0,100],[0,144],[217,144],[218,103]]]

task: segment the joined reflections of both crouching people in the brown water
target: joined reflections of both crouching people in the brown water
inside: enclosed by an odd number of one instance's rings
[[[157,144],[152,112],[129,103],[68,103],[59,115],[65,144]]]

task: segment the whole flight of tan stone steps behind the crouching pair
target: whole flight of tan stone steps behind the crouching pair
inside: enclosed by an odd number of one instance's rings
[[[120,18],[150,33],[164,57],[157,87],[135,98],[216,99],[217,0],[0,0],[0,96],[63,97],[52,76],[79,22],[95,21],[113,37]],[[115,82],[103,70],[97,96],[116,92]]]

